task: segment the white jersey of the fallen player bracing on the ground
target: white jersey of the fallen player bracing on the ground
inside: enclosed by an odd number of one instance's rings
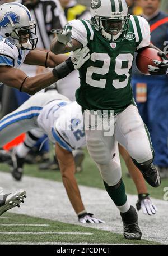
[[[50,102],[38,116],[38,125],[53,143],[58,142],[68,151],[85,146],[83,116],[77,102]]]

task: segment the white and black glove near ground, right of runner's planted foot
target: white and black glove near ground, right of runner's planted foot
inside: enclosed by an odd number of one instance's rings
[[[137,210],[142,209],[144,214],[152,215],[157,212],[156,206],[152,203],[149,194],[139,194],[136,203]]]

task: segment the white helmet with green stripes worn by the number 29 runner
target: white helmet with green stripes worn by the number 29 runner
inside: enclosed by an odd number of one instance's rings
[[[128,6],[125,0],[92,0],[91,21],[108,41],[121,41],[129,25]]]

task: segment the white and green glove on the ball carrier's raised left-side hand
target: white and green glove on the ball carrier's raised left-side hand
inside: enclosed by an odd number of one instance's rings
[[[72,26],[69,26],[66,24],[64,26],[64,29],[53,29],[52,33],[55,33],[57,35],[57,40],[59,43],[63,43],[65,46],[68,45],[69,47],[72,47]]]

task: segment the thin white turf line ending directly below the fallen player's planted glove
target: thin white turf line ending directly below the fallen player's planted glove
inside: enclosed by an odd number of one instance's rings
[[[0,232],[0,235],[93,235],[89,232]]]

